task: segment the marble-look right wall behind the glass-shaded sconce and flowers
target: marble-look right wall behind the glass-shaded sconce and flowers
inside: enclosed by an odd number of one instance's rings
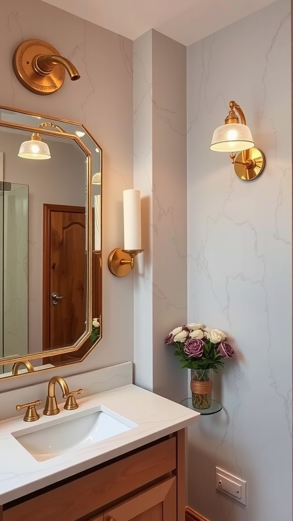
[[[210,521],[292,518],[291,36],[280,0],[188,48],[188,315],[229,334],[215,377],[224,410],[189,429],[189,505]],[[228,103],[265,153],[238,179],[209,149]],[[215,491],[215,466],[247,480],[247,506]]]

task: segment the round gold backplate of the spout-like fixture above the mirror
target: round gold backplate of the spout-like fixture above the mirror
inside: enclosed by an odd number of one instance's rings
[[[13,69],[17,79],[34,94],[52,94],[60,89],[65,79],[65,69],[62,65],[55,65],[45,75],[35,72],[35,58],[47,54],[59,55],[59,52],[43,40],[26,40],[16,48],[13,55]]]

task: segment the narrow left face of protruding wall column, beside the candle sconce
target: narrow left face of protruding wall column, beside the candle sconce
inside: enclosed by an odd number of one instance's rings
[[[133,42],[133,183],[141,191],[141,247],[135,271],[135,383],[153,389],[152,341],[152,31]]]

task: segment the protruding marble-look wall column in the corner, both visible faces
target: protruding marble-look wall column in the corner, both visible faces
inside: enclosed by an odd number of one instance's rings
[[[136,383],[182,400],[186,374],[164,338],[187,317],[186,47],[153,30],[134,44],[134,183],[144,248],[135,278]]]

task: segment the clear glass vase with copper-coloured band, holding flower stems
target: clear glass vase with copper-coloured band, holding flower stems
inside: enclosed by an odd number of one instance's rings
[[[212,369],[191,369],[192,407],[208,409],[212,405]]]

